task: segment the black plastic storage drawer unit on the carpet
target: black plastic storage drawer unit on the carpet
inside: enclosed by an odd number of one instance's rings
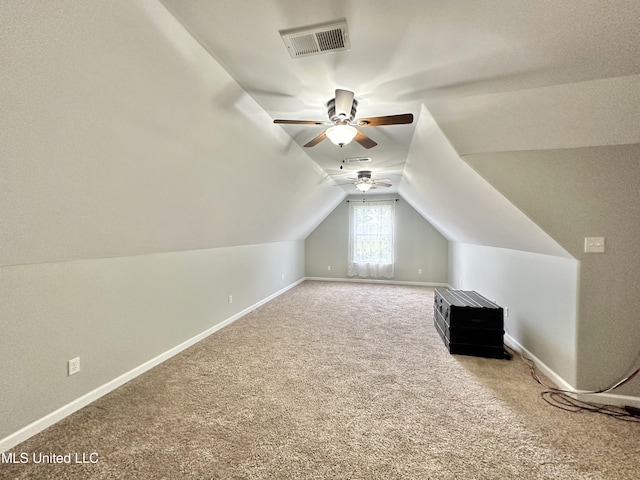
[[[433,300],[433,323],[449,353],[510,358],[502,307],[468,290],[436,288]]]

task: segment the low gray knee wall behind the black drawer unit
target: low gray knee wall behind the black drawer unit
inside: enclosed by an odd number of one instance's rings
[[[556,384],[575,387],[579,262],[465,243],[451,243],[449,255],[449,283],[502,306],[507,339],[533,354]]]

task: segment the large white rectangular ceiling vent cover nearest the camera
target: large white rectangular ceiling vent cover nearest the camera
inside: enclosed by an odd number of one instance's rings
[[[302,28],[280,30],[291,58],[309,57],[349,50],[349,33],[345,19]]]

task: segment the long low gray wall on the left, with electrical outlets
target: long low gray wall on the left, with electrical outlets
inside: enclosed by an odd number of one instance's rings
[[[303,277],[303,241],[3,267],[0,441]]]

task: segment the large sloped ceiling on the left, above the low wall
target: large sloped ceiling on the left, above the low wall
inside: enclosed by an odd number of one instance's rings
[[[345,196],[158,2],[0,31],[0,265],[299,240]]]

